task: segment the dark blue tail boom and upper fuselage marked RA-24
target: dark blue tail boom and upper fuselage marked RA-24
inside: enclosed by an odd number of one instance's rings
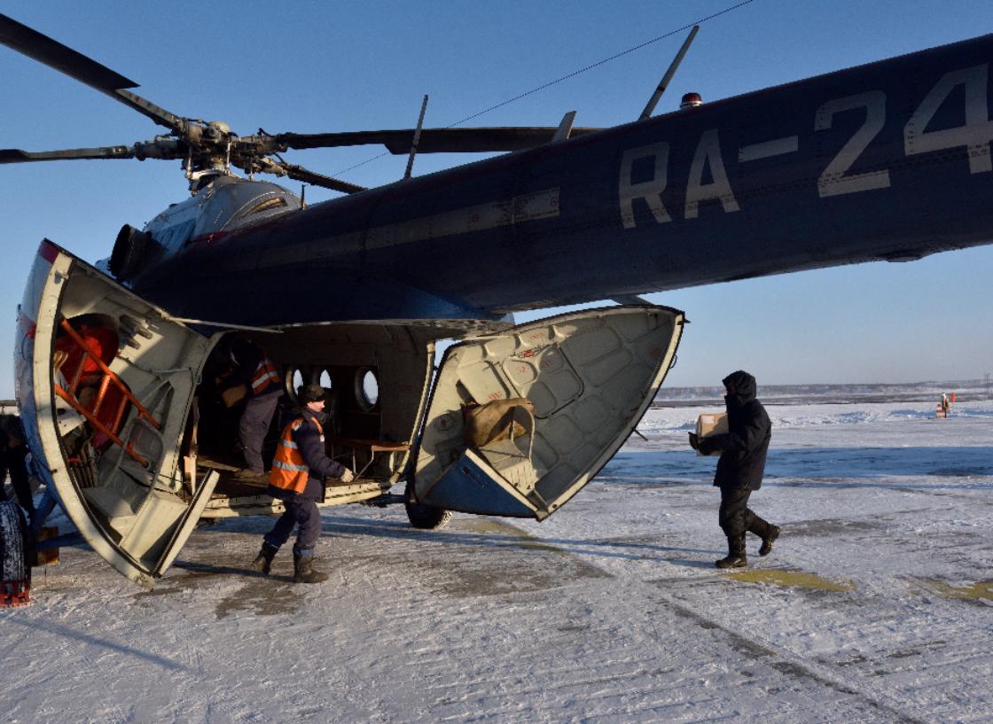
[[[986,36],[304,210],[221,179],[149,224],[131,286],[215,322],[493,319],[986,243],[990,57]]]

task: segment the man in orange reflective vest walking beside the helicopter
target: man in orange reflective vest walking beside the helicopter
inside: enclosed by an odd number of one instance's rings
[[[324,500],[326,480],[351,483],[355,476],[345,466],[331,460],[324,448],[324,405],[327,390],[320,384],[307,384],[297,390],[300,411],[280,436],[276,457],[269,473],[269,495],[283,501],[286,511],[262,538],[262,549],[251,563],[252,570],[268,575],[272,559],[297,524],[293,544],[295,583],[320,583],[328,574],[314,569],[314,548],[321,535],[318,501]]]

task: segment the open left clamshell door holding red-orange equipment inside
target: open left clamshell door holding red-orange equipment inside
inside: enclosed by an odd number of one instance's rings
[[[37,472],[100,556],[150,586],[207,505],[185,480],[191,400],[212,341],[50,241],[18,319],[18,405]]]

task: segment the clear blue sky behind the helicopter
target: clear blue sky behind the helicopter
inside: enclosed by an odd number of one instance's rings
[[[447,126],[732,5],[697,2],[2,2],[5,14],[140,83],[138,94],[238,133]],[[704,23],[659,111],[696,90],[736,95],[993,31],[988,0],[754,0]],[[467,125],[578,125],[638,116],[685,37],[659,41]],[[131,144],[157,126],[102,94],[0,48],[0,147]],[[287,160],[336,174],[374,147]],[[476,157],[421,156],[423,174]],[[405,158],[343,174],[374,186]],[[299,186],[289,185],[294,191]],[[0,360],[39,240],[90,261],[124,222],[141,226],[185,198],[178,162],[0,166],[5,279]],[[334,196],[308,189],[308,200]],[[993,229],[991,229],[993,231]],[[993,371],[993,246],[908,264],[874,263],[651,295],[686,310],[670,385],[716,384],[744,367],[766,383],[917,381]],[[334,280],[329,280],[334,283]],[[529,315],[528,318],[534,315]],[[0,364],[0,397],[13,394]]]

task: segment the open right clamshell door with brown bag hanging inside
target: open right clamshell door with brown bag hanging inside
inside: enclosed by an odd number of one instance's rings
[[[424,419],[422,504],[543,519],[631,435],[675,356],[683,314],[566,314],[446,352]]]

